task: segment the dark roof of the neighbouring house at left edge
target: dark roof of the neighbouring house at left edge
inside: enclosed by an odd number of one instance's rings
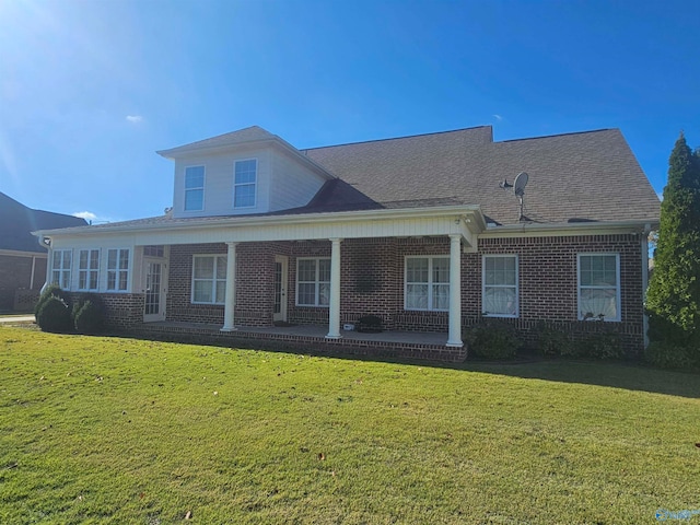
[[[0,249],[46,253],[32,232],[85,224],[78,217],[33,210],[0,192]]]

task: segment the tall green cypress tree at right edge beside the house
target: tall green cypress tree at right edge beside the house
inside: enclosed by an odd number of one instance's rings
[[[652,340],[700,354],[700,154],[682,132],[668,159],[646,307]]]

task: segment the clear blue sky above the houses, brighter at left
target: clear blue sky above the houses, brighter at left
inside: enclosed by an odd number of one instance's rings
[[[172,203],[155,150],[492,125],[620,128],[661,192],[679,131],[700,145],[698,20],[697,0],[0,0],[0,191],[137,219]]]

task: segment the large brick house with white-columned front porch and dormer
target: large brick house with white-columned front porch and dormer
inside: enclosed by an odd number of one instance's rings
[[[488,316],[525,338],[547,320],[644,345],[660,202],[617,129],[299,150],[254,126],[159,153],[175,163],[165,215],[36,232],[47,280],[100,293],[115,328],[322,325],[316,342],[349,343],[346,325],[371,314],[460,359],[463,327]],[[522,172],[521,202],[509,186]]]

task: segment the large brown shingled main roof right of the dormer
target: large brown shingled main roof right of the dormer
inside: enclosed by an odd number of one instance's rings
[[[527,172],[524,214],[534,222],[655,222],[660,214],[658,197],[619,129],[493,142],[487,126],[304,153],[355,199],[378,207],[480,205],[490,221],[517,223],[517,198],[499,183]],[[326,191],[341,206],[337,192]]]

